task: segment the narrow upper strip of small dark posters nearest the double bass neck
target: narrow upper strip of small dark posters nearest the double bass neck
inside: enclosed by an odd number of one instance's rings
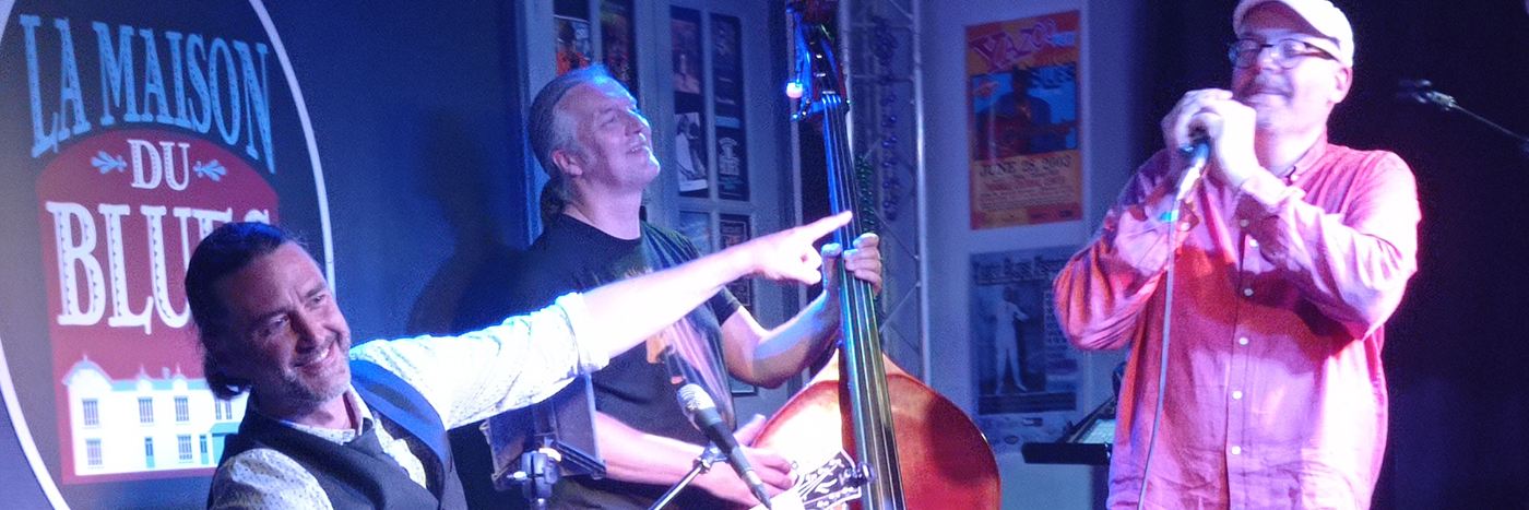
[[[743,137],[742,21],[711,15],[711,93],[717,124],[717,199],[749,200],[748,151]]]

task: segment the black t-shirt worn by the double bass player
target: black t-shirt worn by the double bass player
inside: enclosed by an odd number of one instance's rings
[[[642,223],[639,240],[621,240],[572,217],[558,215],[547,221],[541,237],[515,261],[515,275],[480,281],[495,284],[497,292],[469,292],[476,302],[463,302],[463,307],[474,311],[463,311],[463,316],[476,316],[482,325],[492,324],[508,315],[546,307],[569,292],[679,266],[697,257],[696,246],[670,229]],[[610,365],[592,376],[595,408],[638,431],[705,444],[705,435],[696,431],[680,409],[676,391],[685,382],[700,383],[717,402],[723,418],[732,421],[720,324],[737,310],[739,301],[723,289],[685,319],[613,357]],[[550,507],[647,508],[667,489],[569,476],[558,484]],[[703,490],[688,489],[670,507],[720,505],[720,501]]]

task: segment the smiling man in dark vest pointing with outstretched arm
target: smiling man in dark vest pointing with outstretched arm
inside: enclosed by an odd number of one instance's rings
[[[812,241],[846,214],[567,293],[456,337],[372,341],[287,231],[228,223],[191,255],[185,289],[219,399],[249,392],[208,508],[468,507],[446,429],[521,408],[599,370],[742,276],[816,282]]]

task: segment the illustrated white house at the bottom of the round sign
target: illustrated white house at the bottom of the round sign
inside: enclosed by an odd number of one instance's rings
[[[248,397],[213,397],[205,379],[187,379],[180,366],[161,368],[159,379],[142,366],[133,377],[112,379],[89,356],[63,383],[80,476],[217,467]]]

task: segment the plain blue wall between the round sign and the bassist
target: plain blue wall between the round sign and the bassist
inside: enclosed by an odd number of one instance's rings
[[[512,5],[268,9],[317,133],[355,337],[445,331],[474,264],[528,244]]]

